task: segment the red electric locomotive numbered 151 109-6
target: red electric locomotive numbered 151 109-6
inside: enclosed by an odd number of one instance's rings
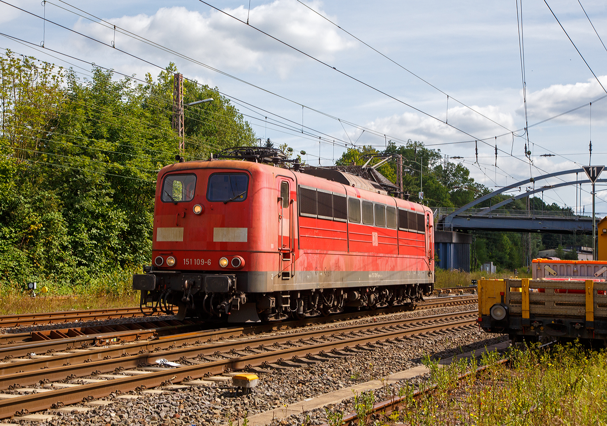
[[[336,168],[285,166],[293,161],[278,150],[220,157],[158,173],[152,265],[133,277],[142,306],[271,321],[432,292],[429,208]]]

